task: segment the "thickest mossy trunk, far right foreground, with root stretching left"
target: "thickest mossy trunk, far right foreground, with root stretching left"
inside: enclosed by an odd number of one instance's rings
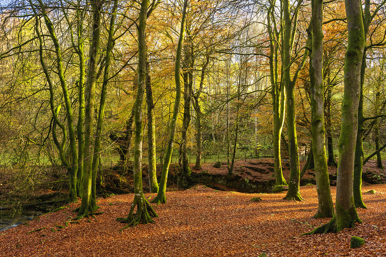
[[[359,0],[345,0],[348,45],[344,65],[342,123],[339,137],[339,163],[335,216],[310,233],[339,232],[354,227],[359,219],[353,195],[354,153],[357,139],[358,103],[361,87],[361,64],[364,49],[362,7]]]

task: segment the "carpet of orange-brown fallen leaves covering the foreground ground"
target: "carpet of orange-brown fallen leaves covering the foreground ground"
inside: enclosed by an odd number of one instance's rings
[[[376,194],[366,194],[369,190]],[[310,219],[317,211],[316,186],[302,186],[303,202],[277,194],[217,191],[203,185],[167,192],[154,205],[154,223],[120,232],[115,221],[129,212],[133,194],[99,199],[103,214],[68,223],[80,203],[0,232],[0,256],[385,256],[386,185],[362,188],[368,209],[357,209],[363,224],[339,233],[300,236],[329,219]],[[335,187],[332,187],[335,200]],[[154,194],[146,194],[152,198]],[[261,197],[255,203],[253,197]],[[58,225],[58,226],[57,226]],[[43,228],[42,230],[31,232]],[[31,233],[28,233],[31,232]],[[350,249],[350,237],[366,243]]]

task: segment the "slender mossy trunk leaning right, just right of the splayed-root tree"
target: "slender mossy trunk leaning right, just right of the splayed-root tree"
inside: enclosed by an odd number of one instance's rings
[[[181,67],[181,51],[184,43],[185,36],[185,17],[186,17],[186,7],[188,5],[188,0],[184,1],[183,14],[181,18],[181,30],[179,33],[178,45],[176,49],[176,64],[174,67],[174,79],[176,82],[176,98],[174,101],[173,117],[170,124],[170,136],[168,149],[166,149],[166,154],[164,156],[164,164],[162,167],[161,181],[159,182],[159,189],[157,196],[151,201],[152,203],[166,203],[166,182],[168,179],[169,165],[171,161],[171,155],[173,153],[174,138],[176,137],[176,127],[177,127],[177,118],[179,103],[181,100],[181,79],[179,77],[179,69]]]

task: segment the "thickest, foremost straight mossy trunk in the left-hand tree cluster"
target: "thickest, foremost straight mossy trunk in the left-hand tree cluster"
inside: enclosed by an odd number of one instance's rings
[[[95,198],[92,196],[93,180],[93,122],[95,108],[95,83],[97,79],[97,62],[99,55],[100,41],[100,12],[102,3],[99,1],[91,2],[93,22],[92,22],[92,39],[90,46],[90,59],[88,67],[87,81],[87,102],[85,110],[85,154],[83,162],[83,183],[82,183],[82,202],[78,208],[78,217],[83,217],[97,210],[98,206]]]

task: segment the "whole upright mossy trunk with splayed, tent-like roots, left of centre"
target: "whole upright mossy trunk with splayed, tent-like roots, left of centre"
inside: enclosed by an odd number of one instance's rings
[[[117,218],[124,223],[129,223],[128,226],[134,226],[139,223],[152,223],[152,218],[158,215],[153,210],[150,203],[144,196],[142,189],[142,142],[143,142],[143,102],[146,86],[146,17],[147,8],[149,7],[148,0],[142,0],[141,12],[139,14],[138,24],[138,88],[137,97],[135,99],[135,139],[134,139],[134,200],[131,204],[129,215],[127,218]],[[137,212],[133,215],[134,208],[137,206]]]

